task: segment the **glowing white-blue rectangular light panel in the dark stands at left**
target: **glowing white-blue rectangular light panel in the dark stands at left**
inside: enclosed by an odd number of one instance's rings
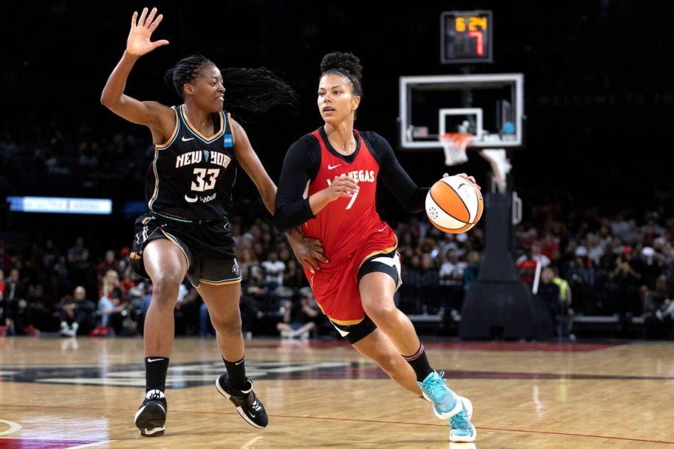
[[[110,215],[111,199],[61,197],[7,197],[14,212],[42,212],[52,214]]]

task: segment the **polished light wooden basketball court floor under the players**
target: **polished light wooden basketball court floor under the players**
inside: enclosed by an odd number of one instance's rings
[[[343,342],[248,342],[258,430],[215,391],[215,341],[176,340],[166,435],[148,439],[142,340],[0,338],[0,448],[674,448],[674,344],[426,347],[475,406],[474,445]]]

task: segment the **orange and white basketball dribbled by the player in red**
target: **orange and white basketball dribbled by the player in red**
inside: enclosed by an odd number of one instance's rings
[[[479,221],[482,209],[479,188],[463,177],[444,177],[426,195],[426,215],[442,232],[466,232]]]

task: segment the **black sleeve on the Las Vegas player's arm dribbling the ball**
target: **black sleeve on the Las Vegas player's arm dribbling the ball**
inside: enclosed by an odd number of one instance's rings
[[[426,207],[428,187],[417,187],[407,172],[400,166],[398,158],[386,139],[377,133],[368,133],[368,142],[379,156],[379,176],[400,204],[409,212],[421,212]]]

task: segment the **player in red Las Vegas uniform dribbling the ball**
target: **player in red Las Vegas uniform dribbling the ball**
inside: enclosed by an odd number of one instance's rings
[[[354,129],[361,72],[353,54],[323,58],[318,110],[325,124],[287,151],[274,223],[281,231],[302,226],[305,237],[322,242],[318,267],[305,263],[305,274],[339,333],[395,382],[432,402],[437,417],[449,419],[450,441],[474,441],[472,404],[431,368],[412,322],[393,303],[401,283],[398,239],[376,211],[377,180],[411,212],[424,210],[428,188],[416,186],[384,138]]]

